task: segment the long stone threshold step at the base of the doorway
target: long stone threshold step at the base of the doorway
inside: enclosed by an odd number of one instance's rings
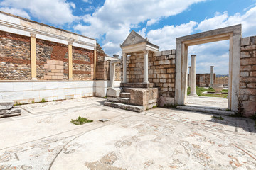
[[[185,110],[185,111],[213,113],[213,114],[216,114],[216,115],[233,115],[233,114],[235,114],[234,111],[225,111],[223,109],[198,107],[198,106],[177,106],[177,109],[181,109],[181,110]]]

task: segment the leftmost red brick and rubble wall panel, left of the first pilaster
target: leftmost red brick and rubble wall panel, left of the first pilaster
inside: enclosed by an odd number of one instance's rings
[[[0,31],[0,80],[29,79],[30,38]]]

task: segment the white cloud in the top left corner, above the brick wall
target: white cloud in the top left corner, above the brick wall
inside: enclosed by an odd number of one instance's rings
[[[3,0],[0,2],[0,6],[3,8],[8,6],[21,11],[27,10],[31,16],[38,18],[41,22],[55,25],[71,23],[78,19],[72,14],[75,4],[65,0]]]

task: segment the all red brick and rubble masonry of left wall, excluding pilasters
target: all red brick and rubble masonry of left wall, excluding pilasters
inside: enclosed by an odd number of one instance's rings
[[[97,45],[97,60],[104,57]],[[73,47],[73,79],[92,80],[93,60],[93,50]],[[36,64],[38,80],[68,80],[68,45],[36,39]],[[0,80],[30,80],[30,37],[0,31],[0,67]]]

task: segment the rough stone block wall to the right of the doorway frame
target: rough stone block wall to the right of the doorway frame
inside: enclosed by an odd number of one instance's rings
[[[242,38],[240,54],[240,96],[245,116],[256,113],[256,37]]]

